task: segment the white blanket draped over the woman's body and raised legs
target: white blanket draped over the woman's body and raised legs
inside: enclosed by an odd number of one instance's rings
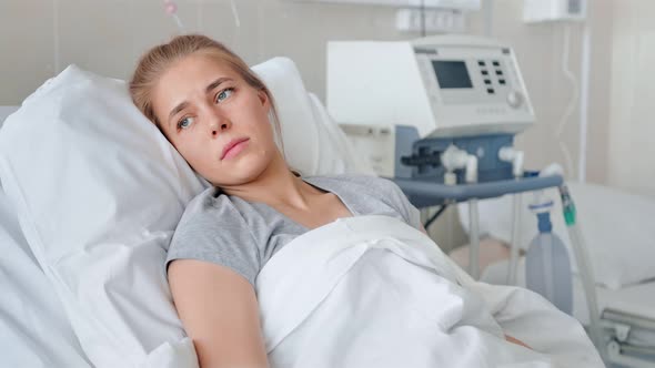
[[[603,367],[575,319],[526,289],[474,282],[391,217],[299,236],[256,292],[272,367]]]

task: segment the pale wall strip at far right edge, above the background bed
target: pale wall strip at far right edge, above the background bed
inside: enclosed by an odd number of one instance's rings
[[[608,183],[655,195],[655,1],[623,0],[614,13]]]

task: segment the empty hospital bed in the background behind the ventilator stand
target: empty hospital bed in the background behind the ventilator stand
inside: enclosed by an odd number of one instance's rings
[[[572,183],[570,188],[576,200],[583,234],[595,264],[596,294],[607,358],[612,364],[625,367],[653,367],[655,280],[647,268],[653,259],[655,233],[649,222],[655,215],[655,200],[594,184]],[[524,203],[530,203],[530,195],[524,197]],[[461,223],[467,229],[466,207],[460,206],[458,211]],[[481,203],[482,233],[486,236],[481,242],[481,279],[484,282],[507,284],[511,212],[507,197]],[[530,237],[536,235],[536,222],[527,211],[522,216],[521,242],[528,244]],[[558,218],[561,214],[554,211],[553,216],[556,217],[554,233],[568,244],[565,227]],[[466,267],[466,253],[467,247],[464,246],[452,252],[451,256]],[[642,270],[634,272],[636,268]],[[526,285],[525,273],[525,258],[521,258],[516,273],[517,285]],[[588,308],[583,284],[575,269],[573,287],[573,315],[587,325]]]

